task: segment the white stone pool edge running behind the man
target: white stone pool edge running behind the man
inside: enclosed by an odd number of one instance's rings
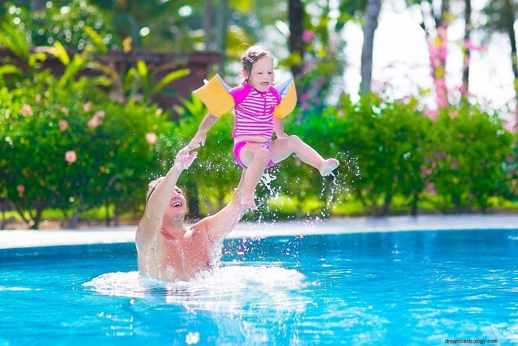
[[[0,248],[135,242],[137,226],[60,230],[0,230]],[[424,230],[518,229],[518,215],[351,217],[239,223],[227,238]]]

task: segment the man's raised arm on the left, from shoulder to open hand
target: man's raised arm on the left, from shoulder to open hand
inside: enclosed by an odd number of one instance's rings
[[[137,248],[141,245],[151,244],[162,227],[164,211],[169,204],[178,178],[183,170],[190,167],[198,153],[189,153],[189,147],[180,149],[176,154],[175,162],[171,169],[156,186],[146,204],[144,216],[137,227]]]

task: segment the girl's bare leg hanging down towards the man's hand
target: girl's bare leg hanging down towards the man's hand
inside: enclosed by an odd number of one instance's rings
[[[247,144],[241,150],[240,158],[248,166],[246,172],[243,172],[242,204],[250,209],[257,209],[254,201],[255,187],[261,181],[264,169],[270,161],[270,153],[260,144]]]

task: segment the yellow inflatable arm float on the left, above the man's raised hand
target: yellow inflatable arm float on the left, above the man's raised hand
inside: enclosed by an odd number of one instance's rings
[[[193,91],[209,109],[209,113],[216,117],[221,117],[234,107],[234,98],[228,93],[230,88],[220,75],[215,75],[209,81],[205,80],[205,85]]]

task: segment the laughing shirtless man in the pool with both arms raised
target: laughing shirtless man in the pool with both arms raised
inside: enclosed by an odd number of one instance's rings
[[[238,204],[243,193],[241,176],[230,203],[191,228],[185,227],[185,198],[176,183],[197,154],[190,154],[188,146],[181,149],[169,172],[149,184],[146,210],[135,237],[141,275],[162,281],[189,281],[197,273],[210,269],[221,257],[226,235],[247,212],[246,207]]]

